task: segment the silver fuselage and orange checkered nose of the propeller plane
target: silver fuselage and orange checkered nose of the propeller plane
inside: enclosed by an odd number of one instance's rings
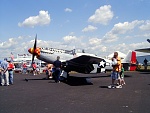
[[[60,56],[60,60],[62,62],[82,55],[96,56],[94,54],[89,54],[89,53],[76,53],[75,50],[64,50],[64,49],[56,49],[56,48],[37,47],[35,50],[33,48],[30,48],[28,51],[31,54],[35,54],[37,59],[45,61],[47,63],[53,63],[56,60],[57,56]]]

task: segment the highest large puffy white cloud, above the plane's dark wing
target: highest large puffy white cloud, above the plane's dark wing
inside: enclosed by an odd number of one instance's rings
[[[95,14],[90,16],[88,21],[92,23],[98,23],[107,25],[108,22],[113,18],[114,14],[111,11],[111,5],[101,6],[95,11]]]

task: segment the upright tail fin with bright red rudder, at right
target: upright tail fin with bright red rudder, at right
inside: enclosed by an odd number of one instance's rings
[[[123,60],[124,64],[128,64],[128,70],[135,71],[136,69],[136,52],[129,51],[126,58]]]

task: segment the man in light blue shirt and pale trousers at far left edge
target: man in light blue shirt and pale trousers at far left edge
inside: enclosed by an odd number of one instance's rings
[[[1,85],[9,86],[9,74],[8,74],[8,62],[7,58],[4,58],[4,61],[0,64],[1,67]]]

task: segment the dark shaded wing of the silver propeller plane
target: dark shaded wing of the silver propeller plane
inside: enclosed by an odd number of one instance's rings
[[[93,64],[100,64],[100,62],[105,62],[104,59],[100,57],[82,55],[71,60],[66,61],[65,71],[76,71],[79,73],[90,73],[94,70]]]

